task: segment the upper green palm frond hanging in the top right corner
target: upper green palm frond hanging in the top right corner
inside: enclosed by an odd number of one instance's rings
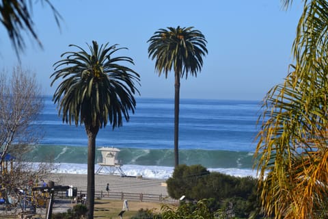
[[[310,78],[315,81],[322,69],[318,62],[327,64],[327,23],[328,2],[305,1],[303,14],[297,26],[297,37],[293,44],[297,62],[295,78]]]

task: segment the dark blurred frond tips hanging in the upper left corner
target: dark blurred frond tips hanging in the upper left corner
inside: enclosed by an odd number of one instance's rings
[[[61,18],[59,12],[55,9],[51,1],[42,0],[42,4],[50,6],[55,16],[57,25],[59,25],[59,18]],[[10,40],[14,45],[14,49],[18,55],[18,51],[22,51],[25,48],[25,41],[21,33],[25,30],[27,34],[31,36],[42,46],[38,35],[33,27],[33,20],[31,18],[32,3],[26,0],[2,0],[0,3],[0,23],[8,31]]]

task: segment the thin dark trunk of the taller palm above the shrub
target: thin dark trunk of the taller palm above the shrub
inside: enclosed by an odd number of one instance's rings
[[[179,165],[179,111],[180,111],[180,75],[176,74],[174,83],[174,166]]]

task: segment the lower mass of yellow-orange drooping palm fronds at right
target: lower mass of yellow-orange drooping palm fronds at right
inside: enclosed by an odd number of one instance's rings
[[[295,83],[294,75],[264,99],[256,148],[262,203],[276,218],[309,218],[313,205],[319,207],[328,195],[323,190],[328,185],[323,162],[328,155],[327,75],[308,83]]]

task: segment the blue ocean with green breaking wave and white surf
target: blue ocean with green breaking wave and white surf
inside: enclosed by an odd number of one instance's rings
[[[46,96],[44,103],[35,121],[44,136],[31,159],[42,162],[52,157],[59,166],[56,172],[86,174],[84,126],[63,123],[51,96]],[[259,112],[260,101],[181,99],[180,164],[201,164],[210,171],[255,177],[252,168]],[[96,146],[120,149],[118,159],[126,175],[167,179],[174,169],[174,99],[138,98],[130,121],[114,130],[111,125],[100,129]],[[96,162],[100,161],[97,151]]]

